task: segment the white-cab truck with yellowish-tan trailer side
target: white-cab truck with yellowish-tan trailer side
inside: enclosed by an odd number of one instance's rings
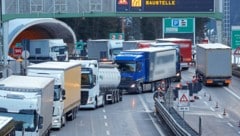
[[[78,62],[43,62],[27,67],[28,76],[52,77],[54,110],[52,128],[60,129],[66,120],[74,120],[81,98],[81,65]]]

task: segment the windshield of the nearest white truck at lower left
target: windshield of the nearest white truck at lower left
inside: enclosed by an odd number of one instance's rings
[[[1,116],[13,117],[16,131],[22,131],[23,128],[27,132],[34,132],[37,126],[37,114],[36,112],[28,113],[12,113],[12,112],[0,112]]]

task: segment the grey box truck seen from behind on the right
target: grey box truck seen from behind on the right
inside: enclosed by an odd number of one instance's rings
[[[197,44],[196,77],[204,85],[228,86],[232,77],[231,48],[221,43]]]

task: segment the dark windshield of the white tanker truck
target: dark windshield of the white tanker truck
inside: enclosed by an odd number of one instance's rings
[[[82,73],[81,76],[81,87],[90,88],[93,86],[93,77],[90,73]]]

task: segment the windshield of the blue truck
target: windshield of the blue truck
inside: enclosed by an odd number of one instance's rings
[[[118,69],[121,71],[121,72],[135,72],[136,71],[136,63],[134,62],[129,62],[129,63],[126,63],[126,62],[117,62],[118,64]]]

